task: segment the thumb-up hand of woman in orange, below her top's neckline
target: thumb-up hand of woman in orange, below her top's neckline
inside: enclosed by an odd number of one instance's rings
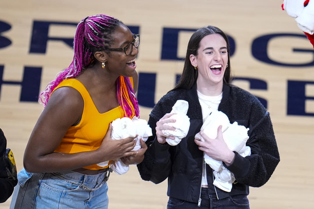
[[[132,156],[137,153],[137,151],[132,151],[136,145],[136,137],[128,137],[123,139],[112,139],[111,138],[112,126],[109,124],[107,133],[97,151],[100,152],[101,162],[122,158],[126,156]],[[135,140],[134,140],[135,139]]]

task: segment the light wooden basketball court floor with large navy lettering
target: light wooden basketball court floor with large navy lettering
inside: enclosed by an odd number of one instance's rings
[[[36,52],[33,44],[37,42],[32,39],[37,37],[35,22],[55,23],[49,25],[48,36],[59,38],[73,38],[75,26],[56,22],[77,24],[82,18],[98,13],[138,27],[140,82],[141,76],[142,81],[149,75],[156,79],[155,89],[143,84],[139,92],[148,91],[155,103],[174,86],[176,74],[182,70],[183,61],[176,58],[184,57],[192,34],[188,29],[214,25],[234,39],[235,50],[230,58],[233,75],[242,78],[234,84],[267,102],[279,148],[281,161],[270,180],[260,188],[250,189],[251,208],[314,208],[314,54],[310,42],[299,36],[303,33],[294,19],[281,10],[281,4],[281,0],[1,0],[0,127],[14,152],[18,171],[23,168],[24,149],[43,107],[25,102],[21,99],[22,86],[8,81],[21,82],[25,67],[38,67],[42,69],[42,91],[73,58],[72,49],[58,40],[48,40],[46,46],[43,44],[46,50]],[[9,25],[9,29],[4,25]],[[177,50],[168,54],[167,44],[163,44],[167,28],[180,29],[177,43],[172,43]],[[2,37],[11,44],[4,47],[8,42]],[[294,91],[296,96],[291,96]],[[295,97],[301,102],[295,102]],[[152,107],[144,100],[139,103],[140,117],[148,120]],[[109,208],[165,209],[167,182],[154,185],[143,181],[136,166],[130,167],[125,175],[110,176]],[[10,201],[11,198],[0,204],[0,209],[9,208]]]

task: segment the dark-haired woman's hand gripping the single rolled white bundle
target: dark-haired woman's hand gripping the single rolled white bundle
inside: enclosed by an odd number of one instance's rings
[[[170,118],[174,113],[167,113],[164,115],[164,117],[160,118],[160,120],[156,123],[156,136],[157,140],[160,144],[165,144],[166,138],[175,139],[174,136],[166,136],[164,133],[162,133],[162,130],[170,130],[175,131],[176,128],[173,128],[171,126],[165,125],[165,123],[175,123],[176,120]]]

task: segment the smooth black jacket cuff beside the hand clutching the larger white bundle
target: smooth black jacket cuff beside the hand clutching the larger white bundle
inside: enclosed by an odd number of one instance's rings
[[[227,166],[224,162],[223,165],[230,170],[235,177],[243,177],[245,176],[251,166],[251,162],[249,159],[242,157],[239,153],[235,153],[235,158],[233,160],[233,163],[229,166]]]

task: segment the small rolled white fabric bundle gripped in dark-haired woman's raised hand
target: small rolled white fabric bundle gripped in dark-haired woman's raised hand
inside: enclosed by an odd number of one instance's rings
[[[170,118],[176,119],[175,123],[165,123],[165,125],[176,128],[175,131],[162,130],[166,136],[174,136],[175,139],[166,138],[166,142],[171,146],[175,146],[181,142],[181,139],[187,136],[190,128],[190,118],[187,116],[189,103],[185,100],[177,100],[170,113],[175,113]]]

